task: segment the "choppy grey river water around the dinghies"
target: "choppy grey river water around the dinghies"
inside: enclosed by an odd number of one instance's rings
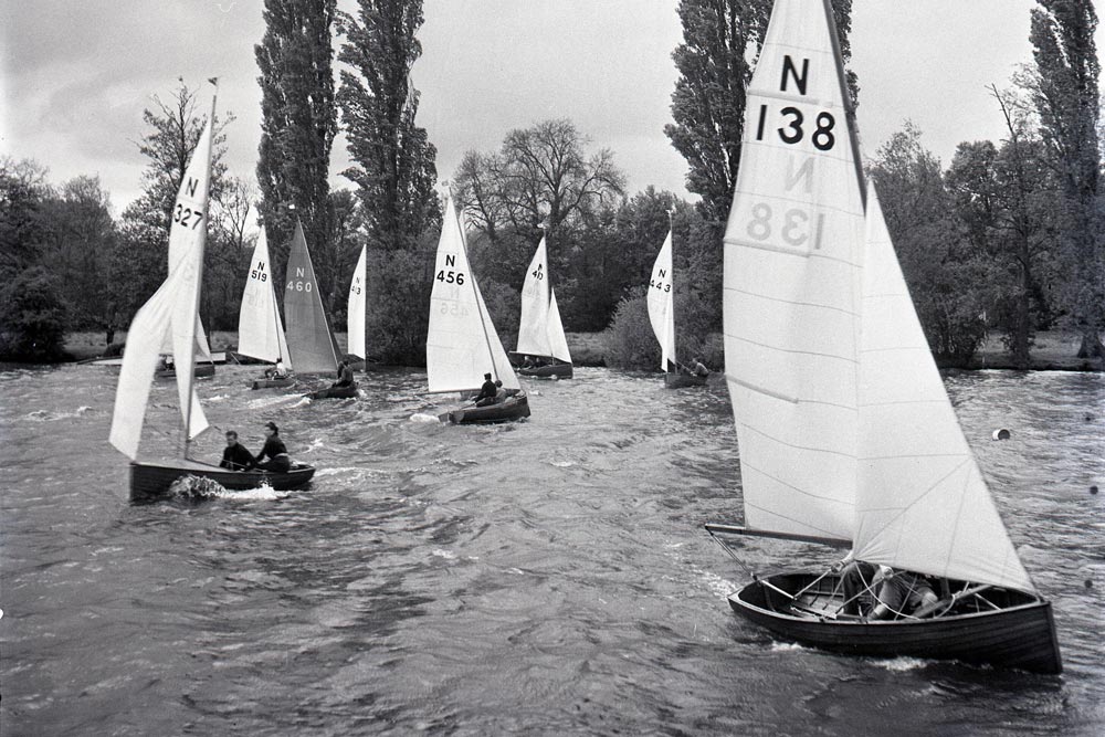
[[[282,427],[309,491],[127,502],[117,372],[0,372],[4,735],[1105,733],[1105,377],[947,378],[1011,536],[1054,603],[1062,676],[772,641],[703,531],[739,522],[723,386],[577,369],[533,417],[444,427],[425,375],[359,400],[200,383],[217,430]],[[145,448],[177,442],[155,388]],[[996,428],[1012,438],[990,440]],[[217,459],[218,431],[196,455]],[[825,560],[747,540],[759,572]]]

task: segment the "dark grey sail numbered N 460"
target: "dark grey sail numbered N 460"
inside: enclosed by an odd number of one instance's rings
[[[338,358],[323,308],[322,289],[307,252],[303,224],[295,223],[292,251],[284,276],[284,314],[287,316],[287,347],[298,373],[334,373]]]

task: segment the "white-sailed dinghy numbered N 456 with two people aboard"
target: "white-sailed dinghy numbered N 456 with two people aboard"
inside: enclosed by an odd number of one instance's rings
[[[508,422],[529,417],[529,399],[491,322],[464,248],[453,198],[445,201],[425,339],[427,382],[431,393],[477,392],[484,373],[503,382],[507,397],[494,404],[469,404],[445,412],[443,422]]]

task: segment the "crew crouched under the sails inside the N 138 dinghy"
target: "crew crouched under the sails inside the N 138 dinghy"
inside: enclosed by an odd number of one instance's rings
[[[841,572],[844,614],[867,619],[897,619],[930,610],[939,597],[924,576],[888,566],[876,569],[853,560]],[[866,602],[864,600],[867,600]]]

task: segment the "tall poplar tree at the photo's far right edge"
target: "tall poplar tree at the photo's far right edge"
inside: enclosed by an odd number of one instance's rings
[[[1032,92],[1064,201],[1060,231],[1066,273],[1060,299],[1082,335],[1078,357],[1105,357],[1097,335],[1105,327],[1105,228],[1097,201],[1097,14],[1093,0],[1039,2],[1029,36],[1035,57]]]

